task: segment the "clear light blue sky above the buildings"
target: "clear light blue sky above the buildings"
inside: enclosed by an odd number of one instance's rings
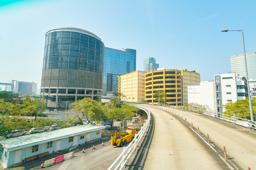
[[[254,0],[9,0],[0,2],[0,82],[34,81],[40,88],[45,34],[70,26],[106,47],[155,57],[160,68],[196,70],[201,81],[231,71],[230,56],[256,51]]]

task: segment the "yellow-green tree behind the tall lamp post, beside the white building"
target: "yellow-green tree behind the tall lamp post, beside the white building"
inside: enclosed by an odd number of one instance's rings
[[[252,101],[254,120],[255,120],[256,119],[256,98],[251,98],[251,101]],[[238,100],[237,102],[229,102],[223,105],[223,107],[226,109],[226,111],[224,111],[223,114],[235,116],[242,119],[248,119],[248,120],[251,119],[248,99]]]

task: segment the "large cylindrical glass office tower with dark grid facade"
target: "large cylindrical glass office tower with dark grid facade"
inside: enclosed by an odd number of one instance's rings
[[[103,61],[104,43],[97,35],[73,27],[48,31],[41,82],[47,107],[65,108],[84,97],[101,100]]]

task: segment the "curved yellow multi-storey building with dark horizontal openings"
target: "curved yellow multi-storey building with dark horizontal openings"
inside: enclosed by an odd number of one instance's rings
[[[167,103],[182,105],[182,75],[177,69],[156,69],[145,74],[145,102],[158,104],[154,93],[164,90]]]

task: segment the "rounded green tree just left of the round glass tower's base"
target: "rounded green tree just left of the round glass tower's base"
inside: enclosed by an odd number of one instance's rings
[[[37,116],[44,117],[43,112],[46,110],[46,101],[40,101],[39,99],[33,99],[31,96],[26,96],[22,102],[22,113],[24,116]]]

